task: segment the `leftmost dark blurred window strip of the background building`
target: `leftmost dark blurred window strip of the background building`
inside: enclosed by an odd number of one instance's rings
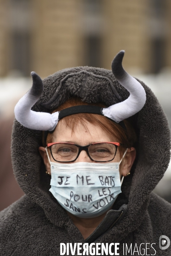
[[[9,71],[30,73],[31,9],[29,0],[9,0]]]

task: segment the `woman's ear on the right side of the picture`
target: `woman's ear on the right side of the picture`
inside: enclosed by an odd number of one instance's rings
[[[133,165],[133,162],[136,158],[136,149],[135,148],[128,148],[127,153],[125,154],[124,159],[122,160],[122,166],[121,166],[121,175],[127,176],[127,174],[130,172],[130,169]]]

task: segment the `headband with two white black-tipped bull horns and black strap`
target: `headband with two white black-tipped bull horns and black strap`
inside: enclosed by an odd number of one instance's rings
[[[108,108],[101,108],[92,105],[81,105],[66,108],[55,113],[35,112],[32,106],[38,101],[43,92],[43,82],[41,78],[32,72],[32,88],[17,103],[14,108],[15,118],[26,128],[40,131],[53,131],[58,121],[64,116],[76,113],[96,113],[113,120],[122,125],[122,120],[133,116],[139,112],[146,101],[145,90],[142,85],[130,76],[122,67],[122,59],[125,51],[120,51],[112,61],[112,72],[116,80],[125,87],[130,96],[123,102],[114,104]]]

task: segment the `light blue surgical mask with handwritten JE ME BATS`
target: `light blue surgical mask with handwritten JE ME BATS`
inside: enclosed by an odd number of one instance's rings
[[[47,155],[49,159],[48,152]],[[107,212],[122,192],[121,185],[124,177],[120,181],[121,161],[119,163],[65,164],[54,163],[49,159],[51,165],[49,191],[58,203],[73,215],[80,218],[97,217]]]

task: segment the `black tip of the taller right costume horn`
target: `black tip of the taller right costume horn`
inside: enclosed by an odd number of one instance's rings
[[[125,51],[121,50],[116,54],[115,58],[112,61],[112,72],[116,79],[122,78],[125,73],[125,70],[122,67],[122,60],[124,58]]]

